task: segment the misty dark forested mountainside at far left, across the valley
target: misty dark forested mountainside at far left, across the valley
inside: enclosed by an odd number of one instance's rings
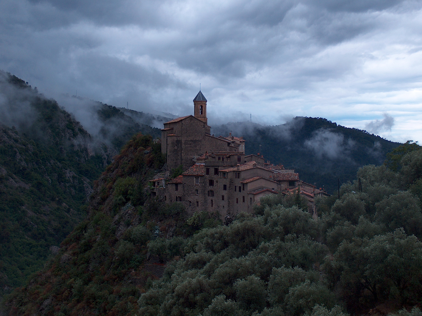
[[[0,72],[0,296],[21,285],[86,216],[115,155],[54,100]],[[6,126],[7,124],[8,126]]]

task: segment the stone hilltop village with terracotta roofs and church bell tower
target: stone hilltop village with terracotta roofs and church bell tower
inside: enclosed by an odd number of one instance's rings
[[[246,140],[233,135],[211,135],[206,115],[207,100],[201,91],[193,99],[194,115],[164,123],[161,151],[167,156],[167,170],[181,166],[174,179],[158,175],[150,180],[151,196],[166,202],[181,202],[188,214],[218,212],[222,218],[238,212],[252,212],[267,194],[300,194],[316,216],[314,198],[328,196],[322,188],[305,183],[299,174],[264,157],[245,155]],[[167,173],[169,174],[169,173]]]

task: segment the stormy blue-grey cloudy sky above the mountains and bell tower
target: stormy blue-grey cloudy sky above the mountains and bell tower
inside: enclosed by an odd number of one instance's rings
[[[0,69],[210,124],[325,117],[422,142],[422,2],[3,0]]]

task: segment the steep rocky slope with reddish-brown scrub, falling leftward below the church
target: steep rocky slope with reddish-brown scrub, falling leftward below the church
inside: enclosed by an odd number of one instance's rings
[[[151,136],[134,136],[96,181],[87,220],[62,242],[60,253],[46,268],[9,298],[10,313],[135,311],[147,278],[163,270],[160,262],[146,262],[145,242],[180,230],[177,204],[145,204],[146,181],[164,162],[159,142],[153,143]]]

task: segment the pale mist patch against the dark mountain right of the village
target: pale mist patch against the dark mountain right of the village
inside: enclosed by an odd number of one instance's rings
[[[304,145],[313,150],[319,159],[330,160],[349,159],[347,153],[354,146],[354,141],[344,139],[339,133],[333,133],[327,129],[319,129],[314,132],[311,139],[305,141]]]

